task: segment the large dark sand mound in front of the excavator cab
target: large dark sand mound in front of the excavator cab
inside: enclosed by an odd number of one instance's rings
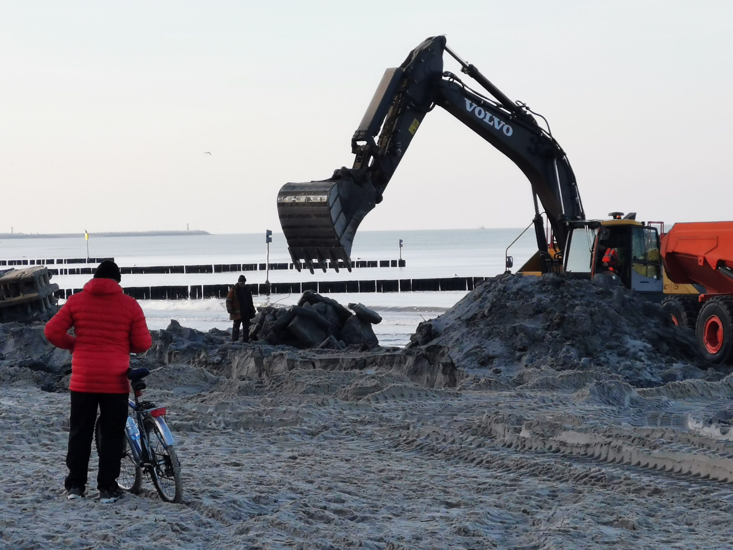
[[[542,377],[559,384],[568,370],[586,373],[576,387],[598,373],[641,387],[720,378],[699,368],[693,334],[672,326],[658,305],[623,287],[552,274],[487,279],[421,323],[408,348],[427,343],[448,349],[459,369],[512,386]]]

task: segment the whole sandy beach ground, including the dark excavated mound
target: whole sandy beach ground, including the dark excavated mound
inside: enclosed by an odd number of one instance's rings
[[[500,277],[406,350],[172,321],[133,366],[168,408],[180,505],[147,478],[114,505],[65,499],[68,395],[37,386],[65,388],[70,358],[42,329],[0,326],[12,548],[729,547],[733,376],[625,290]]]

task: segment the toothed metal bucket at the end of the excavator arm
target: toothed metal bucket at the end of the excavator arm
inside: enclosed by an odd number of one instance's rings
[[[280,224],[288,252],[298,271],[305,263],[313,273],[326,271],[328,261],[339,271],[339,260],[351,271],[351,245],[361,220],[375,206],[375,188],[348,177],[286,183],[277,197]]]

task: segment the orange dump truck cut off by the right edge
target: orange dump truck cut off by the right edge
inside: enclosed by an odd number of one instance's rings
[[[733,221],[674,224],[662,237],[661,255],[672,282],[705,289],[693,325],[702,355],[733,364]]]

